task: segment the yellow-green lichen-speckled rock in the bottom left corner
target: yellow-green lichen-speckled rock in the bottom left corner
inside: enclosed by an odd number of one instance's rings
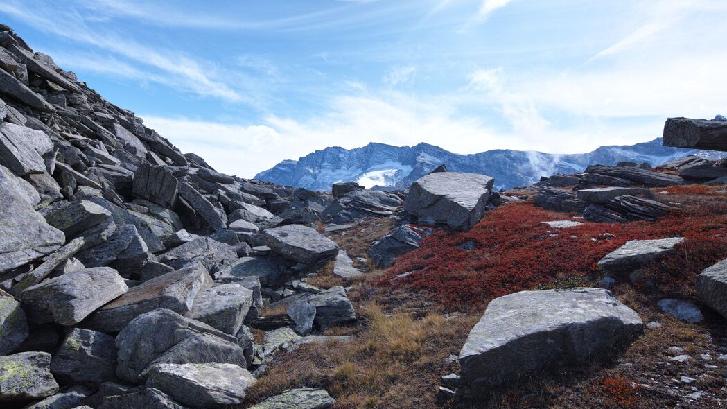
[[[58,392],[49,365],[50,354],[46,352],[0,357],[0,403],[39,400]]]

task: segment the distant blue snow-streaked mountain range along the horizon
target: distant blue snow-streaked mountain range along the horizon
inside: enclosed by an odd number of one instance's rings
[[[715,157],[715,152],[662,146],[662,139],[631,146],[601,146],[587,154],[544,154],[497,149],[479,154],[454,154],[438,146],[390,146],[369,143],[362,148],[338,146],[285,160],[255,178],[279,185],[330,191],[333,183],[355,181],[366,188],[409,188],[414,180],[446,164],[453,172],[472,172],[495,178],[496,188],[529,186],[541,176],[582,172],[589,164],[622,161],[656,165],[689,154]]]

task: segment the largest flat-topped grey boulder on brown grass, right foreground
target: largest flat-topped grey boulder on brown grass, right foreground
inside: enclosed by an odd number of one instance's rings
[[[467,337],[462,380],[492,386],[558,361],[582,362],[642,328],[635,311],[599,288],[505,295],[489,303]]]

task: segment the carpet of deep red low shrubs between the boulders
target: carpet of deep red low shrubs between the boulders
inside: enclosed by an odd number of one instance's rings
[[[628,240],[686,237],[675,255],[646,271],[657,286],[679,291],[690,287],[699,271],[727,257],[727,201],[691,192],[664,196],[680,208],[656,222],[584,223],[568,229],[540,223],[562,220],[563,213],[531,203],[508,204],[489,212],[470,231],[427,237],[419,249],[400,257],[379,285],[419,291],[448,309],[480,306],[561,280],[595,278],[596,263]],[[458,247],[465,242],[473,242],[475,250]],[[413,273],[390,280],[409,271]]]

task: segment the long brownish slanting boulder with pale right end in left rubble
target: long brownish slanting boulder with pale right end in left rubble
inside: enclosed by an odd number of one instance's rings
[[[132,287],[122,297],[108,303],[84,322],[84,326],[111,333],[132,319],[154,309],[170,309],[185,314],[201,290],[212,286],[204,266],[193,264]]]

